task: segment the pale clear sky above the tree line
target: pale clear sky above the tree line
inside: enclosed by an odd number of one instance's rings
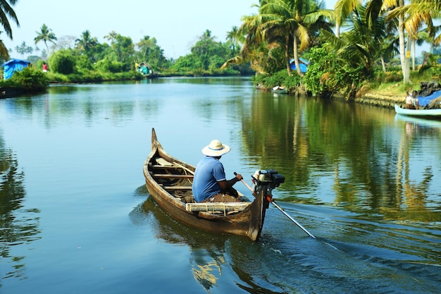
[[[155,37],[164,56],[178,59],[190,53],[190,48],[206,30],[216,41],[225,42],[232,27],[240,27],[242,16],[257,13],[253,4],[258,0],[18,0],[13,10],[20,27],[9,18],[13,40],[3,32],[0,37],[11,57],[22,58],[15,47],[25,42],[35,48],[37,32],[45,24],[58,39],[65,36],[80,38],[89,30],[100,43],[114,30],[131,37],[136,44],[144,36]],[[335,0],[326,0],[326,8],[333,8]],[[0,30],[3,30],[1,27]],[[39,49],[45,49],[42,42]]]

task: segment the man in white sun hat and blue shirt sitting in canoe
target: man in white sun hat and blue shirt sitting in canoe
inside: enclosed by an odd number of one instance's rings
[[[223,164],[219,161],[228,152],[230,147],[219,140],[212,140],[202,149],[205,157],[196,166],[192,186],[196,202],[240,202],[237,191],[232,186],[242,180],[242,176],[238,173],[227,180]]]

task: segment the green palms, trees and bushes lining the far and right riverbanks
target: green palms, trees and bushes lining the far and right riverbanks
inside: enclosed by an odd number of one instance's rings
[[[338,0],[333,10],[318,0],[260,0],[256,8],[225,42],[206,30],[178,59],[167,59],[154,37],[133,42],[112,30],[100,43],[85,30],[77,39],[57,38],[43,24],[34,41],[46,49],[28,60],[35,68],[46,62],[50,82],[142,79],[137,64],[146,62],[150,77],[253,75],[266,89],[346,99],[372,90],[402,94],[409,85],[440,80],[440,0]],[[418,65],[416,44],[424,42],[432,50]],[[32,54],[25,42],[15,50]],[[1,41],[0,55],[9,58]]]

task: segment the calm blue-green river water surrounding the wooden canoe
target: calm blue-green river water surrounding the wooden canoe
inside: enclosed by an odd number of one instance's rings
[[[285,183],[259,242],[149,198],[151,128],[197,164],[212,139]],[[439,293],[441,122],[275,95],[249,78],[59,85],[0,99],[0,293]],[[237,190],[249,194],[242,183]]]

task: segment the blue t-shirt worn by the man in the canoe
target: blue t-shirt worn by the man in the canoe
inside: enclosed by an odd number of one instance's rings
[[[221,192],[218,181],[226,180],[225,171],[221,161],[214,157],[204,157],[199,161],[194,171],[193,197],[197,202],[202,202]]]

